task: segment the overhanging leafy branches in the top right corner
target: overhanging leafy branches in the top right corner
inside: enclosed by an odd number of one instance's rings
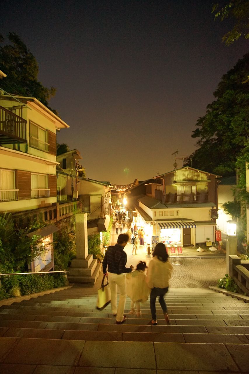
[[[238,40],[241,35],[249,39],[249,1],[248,0],[229,0],[225,6],[218,3],[213,4],[212,13],[215,13],[215,19],[220,18],[224,21],[226,18],[233,19],[234,27],[222,37],[225,45],[230,45]]]

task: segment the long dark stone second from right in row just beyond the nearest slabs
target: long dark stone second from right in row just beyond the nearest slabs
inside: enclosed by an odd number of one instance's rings
[[[162,332],[122,332],[123,341],[155,341],[159,343],[185,343],[183,335],[180,333]],[[208,334],[207,334],[208,335]]]

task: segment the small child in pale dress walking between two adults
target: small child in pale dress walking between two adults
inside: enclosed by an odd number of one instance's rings
[[[126,294],[131,299],[129,314],[136,314],[138,317],[142,315],[140,303],[148,300],[151,291],[146,282],[145,269],[147,269],[146,262],[139,261],[135,272],[126,274]],[[134,304],[136,305],[136,312]]]

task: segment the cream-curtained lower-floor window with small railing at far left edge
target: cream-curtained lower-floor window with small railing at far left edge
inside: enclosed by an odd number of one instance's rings
[[[15,171],[0,169],[0,201],[18,200],[15,189]]]

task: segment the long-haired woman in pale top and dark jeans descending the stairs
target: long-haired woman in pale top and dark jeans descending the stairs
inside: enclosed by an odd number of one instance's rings
[[[157,243],[152,256],[153,258],[150,261],[147,273],[148,286],[151,288],[151,324],[157,325],[156,298],[158,296],[165,320],[167,324],[170,324],[164,296],[169,290],[169,279],[171,278],[173,267],[169,262],[169,255],[167,254],[166,246],[163,243]]]

